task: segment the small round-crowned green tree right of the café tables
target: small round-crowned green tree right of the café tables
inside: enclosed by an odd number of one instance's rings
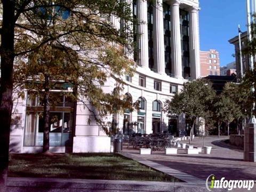
[[[209,115],[209,107],[214,96],[215,92],[209,82],[203,79],[186,82],[180,93],[175,94],[171,101],[165,102],[164,110],[171,114],[186,114],[186,118],[192,122],[190,130],[190,140],[192,140],[196,119],[206,118]]]

